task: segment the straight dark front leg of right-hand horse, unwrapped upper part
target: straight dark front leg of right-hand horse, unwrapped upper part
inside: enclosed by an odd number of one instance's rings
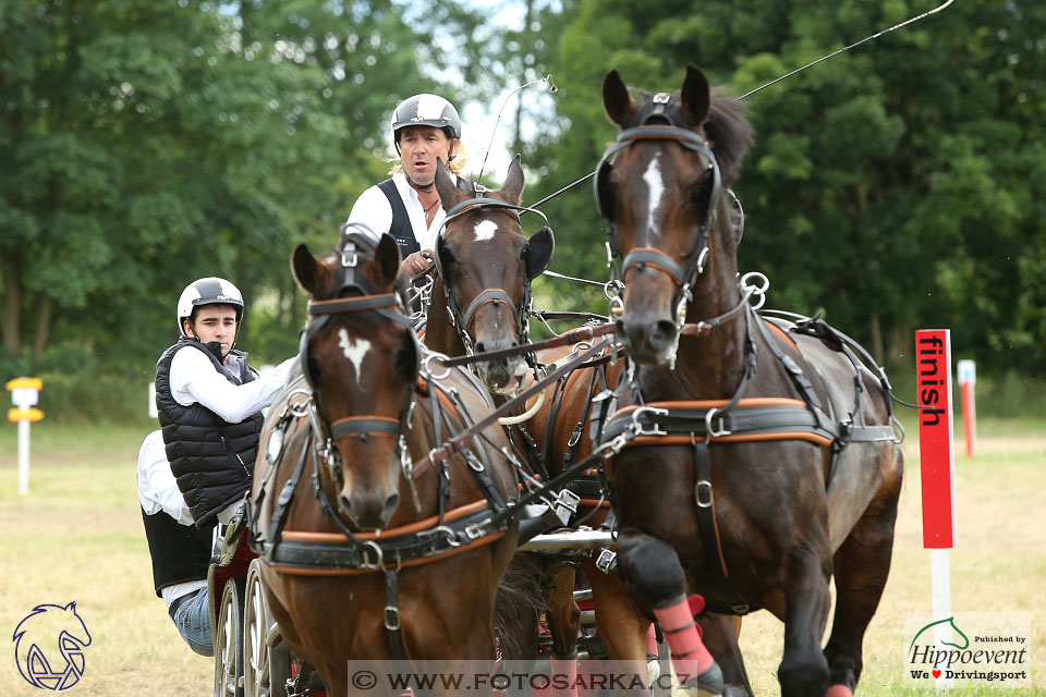
[[[784,562],[784,656],[777,669],[781,697],[824,695],[828,661],[820,639],[828,622],[831,571],[827,534],[800,547]]]

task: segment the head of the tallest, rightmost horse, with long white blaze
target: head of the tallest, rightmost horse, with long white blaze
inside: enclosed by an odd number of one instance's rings
[[[686,319],[714,317],[738,302],[723,188],[737,176],[752,129],[733,102],[713,98],[694,65],[679,91],[643,97],[633,100],[617,71],[604,80],[604,107],[621,133],[597,170],[596,204],[621,261],[617,335],[636,363],[671,365]]]

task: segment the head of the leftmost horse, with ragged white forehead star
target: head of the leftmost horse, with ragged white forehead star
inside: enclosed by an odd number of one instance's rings
[[[302,371],[326,438],[325,486],[358,529],[380,529],[399,505],[403,424],[413,400],[419,348],[404,315],[400,253],[343,234],[326,259],[294,249],[294,278],[309,296]]]

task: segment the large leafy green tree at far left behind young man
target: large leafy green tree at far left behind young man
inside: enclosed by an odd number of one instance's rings
[[[11,356],[31,344],[39,362],[59,327],[115,365],[144,358],[187,277],[250,292],[285,269],[296,184],[343,137],[323,75],[251,56],[231,17],[181,4],[0,5]]]

